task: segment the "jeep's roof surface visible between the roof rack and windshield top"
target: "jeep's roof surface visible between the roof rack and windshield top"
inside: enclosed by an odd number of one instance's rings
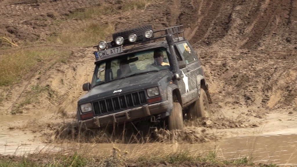
[[[173,39],[173,42],[174,43],[175,42],[181,42],[181,41],[184,41],[184,40],[186,40],[186,39],[184,39],[183,37],[179,37],[178,39],[177,38]],[[148,44],[139,45],[139,46],[135,46],[135,47],[126,49],[122,53],[114,54],[114,55],[108,56],[106,58],[101,58],[101,59],[95,61],[95,64],[97,64],[98,62],[102,62],[102,61],[114,58],[114,57],[125,55],[127,53],[134,53],[134,52],[138,52],[138,51],[144,51],[144,50],[149,50],[149,49],[153,49],[153,48],[167,47],[167,46],[168,46],[168,44],[167,44],[166,40],[159,41],[159,42],[151,42],[151,43],[148,43]]]

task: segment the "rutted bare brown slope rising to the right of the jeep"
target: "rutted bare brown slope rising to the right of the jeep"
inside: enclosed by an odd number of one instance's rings
[[[222,106],[296,105],[296,1],[192,0],[174,1],[170,9],[158,8],[169,3],[151,5],[147,9],[151,17],[133,15],[118,28],[132,19],[139,20],[138,24],[151,22],[157,28],[185,25],[212,95]]]

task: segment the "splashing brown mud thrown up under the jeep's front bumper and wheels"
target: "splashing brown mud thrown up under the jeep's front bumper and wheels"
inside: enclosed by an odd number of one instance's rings
[[[68,122],[55,131],[47,134],[47,141],[60,143],[63,141],[86,143],[204,143],[220,139],[223,134],[214,129],[257,127],[253,122],[244,119],[200,118],[185,121],[183,130],[167,130],[160,127],[148,127],[127,123],[124,126],[110,126],[105,129],[86,129],[77,122]]]

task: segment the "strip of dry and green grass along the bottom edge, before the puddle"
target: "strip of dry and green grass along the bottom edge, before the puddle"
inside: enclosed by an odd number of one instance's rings
[[[92,148],[96,150],[95,146]],[[125,167],[125,166],[256,166],[252,159],[244,157],[236,160],[224,160],[217,156],[217,150],[211,151],[188,151],[159,149],[158,146],[138,146],[137,151],[127,152],[113,147],[106,152],[90,152],[85,149],[65,149],[60,151],[42,150],[23,156],[2,156],[0,166],[44,166],[44,167]],[[274,164],[261,165],[266,167],[276,166]]]

